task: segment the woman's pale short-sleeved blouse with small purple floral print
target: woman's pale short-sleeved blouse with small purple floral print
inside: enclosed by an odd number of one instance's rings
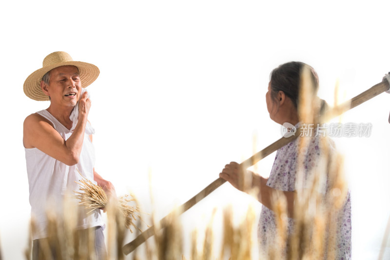
[[[295,183],[297,179],[297,160],[298,160],[298,144],[301,137],[293,140],[289,144],[283,146],[276,152],[276,157],[273,162],[273,167],[271,170],[270,177],[267,181],[267,185],[281,191],[294,191],[297,190],[296,187],[299,187]],[[303,168],[304,170],[304,182],[309,183],[309,180],[312,180],[314,172],[311,171],[319,163],[320,160],[317,160],[322,154],[321,144],[323,144],[324,138],[321,136],[311,137],[309,140],[309,145],[306,149],[301,149],[301,154],[303,156]],[[334,154],[334,144],[329,139],[326,138],[326,143],[329,144],[329,154]],[[329,177],[327,177],[329,178]],[[326,178],[326,179],[327,179]],[[301,182],[302,183],[302,182]],[[329,180],[323,181],[322,190],[319,191],[320,194],[328,194],[328,183]],[[305,188],[306,184],[303,184]],[[328,246],[325,250],[329,255],[330,251],[334,253],[337,260],[347,260],[351,259],[351,200],[350,193],[348,192],[345,200],[342,200],[342,207],[333,215],[335,215],[335,230],[330,232],[332,236],[333,246]],[[329,211],[327,212],[327,214]],[[275,249],[277,243],[278,230],[276,227],[275,213],[269,208],[262,206],[260,220],[257,228],[257,235],[260,245],[260,253],[265,257],[272,257],[272,250]],[[287,218],[287,233],[289,236],[293,234],[294,219]],[[328,231],[326,229],[326,231]],[[329,233],[329,232],[328,232]],[[334,237],[335,236],[335,237]],[[276,250],[282,251],[282,257],[286,257],[287,244],[283,244],[283,249],[276,248]],[[327,253],[325,253],[324,258],[327,258]],[[333,254],[332,254],[333,255]]]

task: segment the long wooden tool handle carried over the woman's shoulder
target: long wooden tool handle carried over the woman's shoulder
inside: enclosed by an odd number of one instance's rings
[[[339,115],[343,114],[344,112],[350,110],[351,108],[354,108],[354,107],[360,105],[361,103],[364,103],[367,100],[370,100],[373,97],[381,94],[382,92],[389,90],[389,87],[390,87],[389,82],[387,80],[384,80],[381,83],[378,83],[378,84],[372,86],[371,88],[369,88],[368,90],[357,95],[353,99],[351,99],[351,100],[349,100],[349,101],[347,101],[339,106],[332,108],[330,111],[331,116],[329,117],[329,119],[334,118],[336,116],[339,116]],[[297,129],[296,133],[299,133],[299,129],[300,128]],[[293,135],[293,136],[288,137],[288,138],[282,137],[281,139],[273,142],[272,144],[270,144],[269,146],[267,146],[263,150],[254,154],[251,158],[244,160],[241,163],[241,165],[245,166],[246,168],[254,165],[258,161],[260,161],[263,158],[272,154],[274,151],[285,146],[286,144],[288,144],[292,140],[295,140],[298,136],[299,135]],[[183,212],[187,211],[189,208],[194,206],[200,200],[204,199],[206,196],[208,196],[210,193],[215,191],[216,188],[218,188],[219,186],[221,186],[225,182],[226,182],[226,180],[223,180],[221,178],[216,179],[211,184],[209,184],[206,188],[204,188],[202,191],[200,191],[198,194],[196,194],[194,197],[192,197],[190,200],[188,200],[187,202],[185,202],[184,204],[179,206],[179,208],[176,210],[176,214],[182,214]],[[173,214],[173,212],[169,213],[167,216],[165,216],[163,219],[160,220],[160,227],[161,228],[164,228],[164,226],[166,226],[166,221],[170,219],[172,214]],[[138,235],[138,237],[135,240],[131,241],[128,244],[125,244],[122,248],[123,253],[125,255],[128,255],[129,253],[133,252],[134,249],[137,248],[137,246],[139,246],[140,244],[145,242],[145,240],[147,240],[148,238],[150,238],[154,234],[155,234],[155,227],[152,226],[152,227],[148,228],[146,231],[144,231],[140,235]]]

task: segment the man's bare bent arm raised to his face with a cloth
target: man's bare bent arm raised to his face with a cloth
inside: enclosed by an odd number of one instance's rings
[[[80,109],[80,104],[83,109]],[[23,145],[25,148],[38,148],[45,154],[67,165],[78,163],[84,130],[91,102],[86,95],[79,102],[78,124],[68,140],[64,140],[50,121],[38,114],[28,116],[23,123]]]

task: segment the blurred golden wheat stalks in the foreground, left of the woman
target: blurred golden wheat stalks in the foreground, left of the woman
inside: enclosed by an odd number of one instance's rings
[[[67,206],[69,206],[68,204]],[[85,206],[85,203],[81,205]],[[156,229],[156,235],[152,240],[147,240],[144,245],[139,246],[132,254],[125,256],[121,248],[126,238],[126,220],[118,204],[108,203],[107,208],[107,260],[216,260],[216,259],[252,259],[253,232],[255,224],[255,213],[253,208],[249,208],[247,218],[238,224],[233,223],[234,212],[231,207],[223,210],[223,241],[219,248],[216,248],[215,232],[213,224],[215,214],[209,221],[204,234],[199,234],[194,230],[193,234],[184,234],[178,215],[173,215],[164,228]],[[216,211],[216,209],[215,209]],[[76,230],[77,210],[67,210],[64,216],[59,218],[53,214],[48,214],[49,230],[54,236],[44,240],[42,245],[43,257],[41,259],[51,260],[52,251],[56,259],[61,260],[93,260],[95,238],[92,234],[80,236]],[[151,216],[151,222],[153,220]],[[137,226],[140,219],[137,219]],[[34,220],[31,223],[34,230]],[[202,235],[202,236],[199,236]],[[199,238],[201,241],[199,242]],[[81,241],[83,240],[83,241]],[[186,256],[183,251],[184,241],[190,242],[190,254]],[[126,241],[128,242],[128,241]],[[31,241],[25,251],[26,259],[31,259]]]

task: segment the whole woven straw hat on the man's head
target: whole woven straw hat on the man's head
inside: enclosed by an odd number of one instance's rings
[[[48,71],[59,66],[65,65],[73,65],[78,67],[78,71],[80,73],[80,80],[83,88],[94,82],[98,78],[100,73],[98,67],[93,64],[81,61],[73,61],[72,57],[70,57],[69,54],[63,51],[53,52],[46,56],[46,58],[43,60],[42,68],[34,71],[24,81],[24,94],[26,94],[27,97],[33,100],[49,100],[49,97],[46,96],[40,88],[40,81],[42,80],[43,75],[45,75]]]

